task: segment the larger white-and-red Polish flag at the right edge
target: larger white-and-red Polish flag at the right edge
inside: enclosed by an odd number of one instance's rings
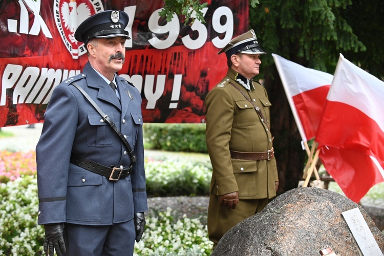
[[[315,141],[327,172],[358,203],[384,181],[384,82],[340,54]]]

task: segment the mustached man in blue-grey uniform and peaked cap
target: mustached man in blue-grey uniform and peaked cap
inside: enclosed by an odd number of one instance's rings
[[[141,97],[116,74],[124,63],[128,20],[109,10],[80,24],[75,38],[86,45],[89,62],[55,88],[45,113],[36,146],[38,224],[45,227],[50,255],[132,255],[143,234]]]

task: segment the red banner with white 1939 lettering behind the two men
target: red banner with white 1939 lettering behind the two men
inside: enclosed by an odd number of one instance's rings
[[[104,10],[130,21],[119,75],[141,92],[144,122],[204,122],[204,98],[226,74],[231,38],[248,30],[248,1],[208,0],[206,23],[158,15],[164,2],[124,0],[0,1],[0,127],[44,121],[53,89],[87,63],[77,26]]]

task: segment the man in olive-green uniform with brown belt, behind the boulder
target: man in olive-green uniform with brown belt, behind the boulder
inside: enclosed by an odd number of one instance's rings
[[[205,98],[206,142],[213,167],[208,236],[217,243],[231,227],[261,211],[276,196],[278,171],[269,108],[259,74],[265,54],[253,30],[233,38],[225,52],[228,72]]]

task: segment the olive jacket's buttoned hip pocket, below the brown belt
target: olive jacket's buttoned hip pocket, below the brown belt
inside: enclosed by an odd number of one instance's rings
[[[232,161],[233,175],[239,187],[239,197],[250,197],[257,193],[256,161],[234,160]]]

